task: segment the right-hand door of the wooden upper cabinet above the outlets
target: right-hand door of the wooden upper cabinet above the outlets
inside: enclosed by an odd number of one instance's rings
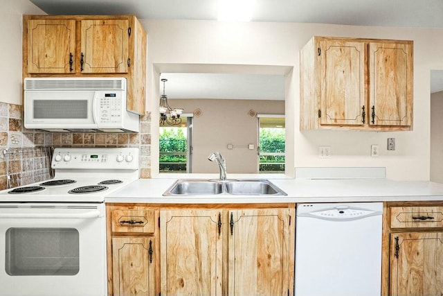
[[[413,45],[370,43],[369,80],[370,125],[411,125]]]

